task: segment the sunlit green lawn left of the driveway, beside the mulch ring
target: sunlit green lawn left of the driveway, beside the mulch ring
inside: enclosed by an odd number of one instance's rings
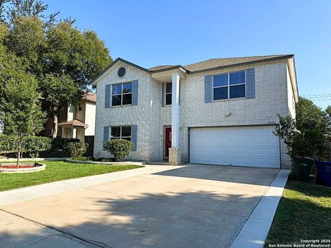
[[[40,161],[38,163],[46,164],[46,169],[41,172],[23,174],[0,173],[0,191],[143,167],[140,165],[83,165],[62,161]]]

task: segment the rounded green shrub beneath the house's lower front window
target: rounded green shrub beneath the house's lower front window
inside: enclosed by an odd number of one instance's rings
[[[114,156],[116,162],[120,162],[123,158],[129,156],[133,148],[131,141],[124,139],[113,139],[103,145],[103,147]]]

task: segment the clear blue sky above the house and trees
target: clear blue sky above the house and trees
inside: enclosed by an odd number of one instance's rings
[[[294,54],[299,94],[331,105],[330,0],[44,0],[144,68]]]

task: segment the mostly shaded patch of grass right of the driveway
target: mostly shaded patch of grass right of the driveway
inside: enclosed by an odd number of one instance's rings
[[[331,188],[289,181],[265,242],[300,244],[301,239],[331,238]]]

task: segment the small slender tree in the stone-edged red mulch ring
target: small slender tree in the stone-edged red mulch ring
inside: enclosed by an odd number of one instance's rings
[[[4,133],[16,137],[17,166],[23,152],[24,138],[33,136],[43,129],[46,115],[41,112],[38,103],[40,94],[37,87],[34,76],[14,71],[4,88],[0,118],[6,123]]]

